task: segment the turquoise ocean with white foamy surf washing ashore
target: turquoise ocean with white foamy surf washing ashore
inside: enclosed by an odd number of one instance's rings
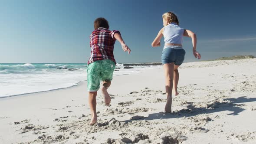
[[[159,64],[117,64],[113,75],[129,75],[155,66]],[[0,63],[0,98],[78,85],[86,81],[86,67],[86,63]]]

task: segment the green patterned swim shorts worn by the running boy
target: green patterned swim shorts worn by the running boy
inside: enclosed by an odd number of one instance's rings
[[[101,80],[111,81],[114,69],[115,62],[108,59],[98,60],[87,65],[87,91],[97,92]]]

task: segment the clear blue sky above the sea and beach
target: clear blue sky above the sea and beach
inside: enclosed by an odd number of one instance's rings
[[[223,0],[224,1],[224,0]],[[89,35],[97,17],[121,32],[131,54],[115,44],[121,62],[160,62],[151,43],[163,27],[161,15],[177,14],[180,26],[197,34],[202,60],[256,56],[253,0],[0,0],[0,63],[76,63],[90,56]],[[191,39],[184,38],[186,62]]]

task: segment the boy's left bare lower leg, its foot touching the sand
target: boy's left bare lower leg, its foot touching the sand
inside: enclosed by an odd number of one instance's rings
[[[90,125],[93,125],[97,122],[96,96],[97,96],[97,92],[89,92],[89,105],[90,105],[91,115],[92,115]]]

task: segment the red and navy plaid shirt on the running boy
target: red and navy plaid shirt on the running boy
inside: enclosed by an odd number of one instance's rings
[[[88,65],[92,62],[102,59],[109,59],[115,62],[114,58],[114,34],[120,32],[118,30],[110,31],[106,28],[99,27],[90,35],[91,56]],[[116,62],[115,62],[116,63]]]

